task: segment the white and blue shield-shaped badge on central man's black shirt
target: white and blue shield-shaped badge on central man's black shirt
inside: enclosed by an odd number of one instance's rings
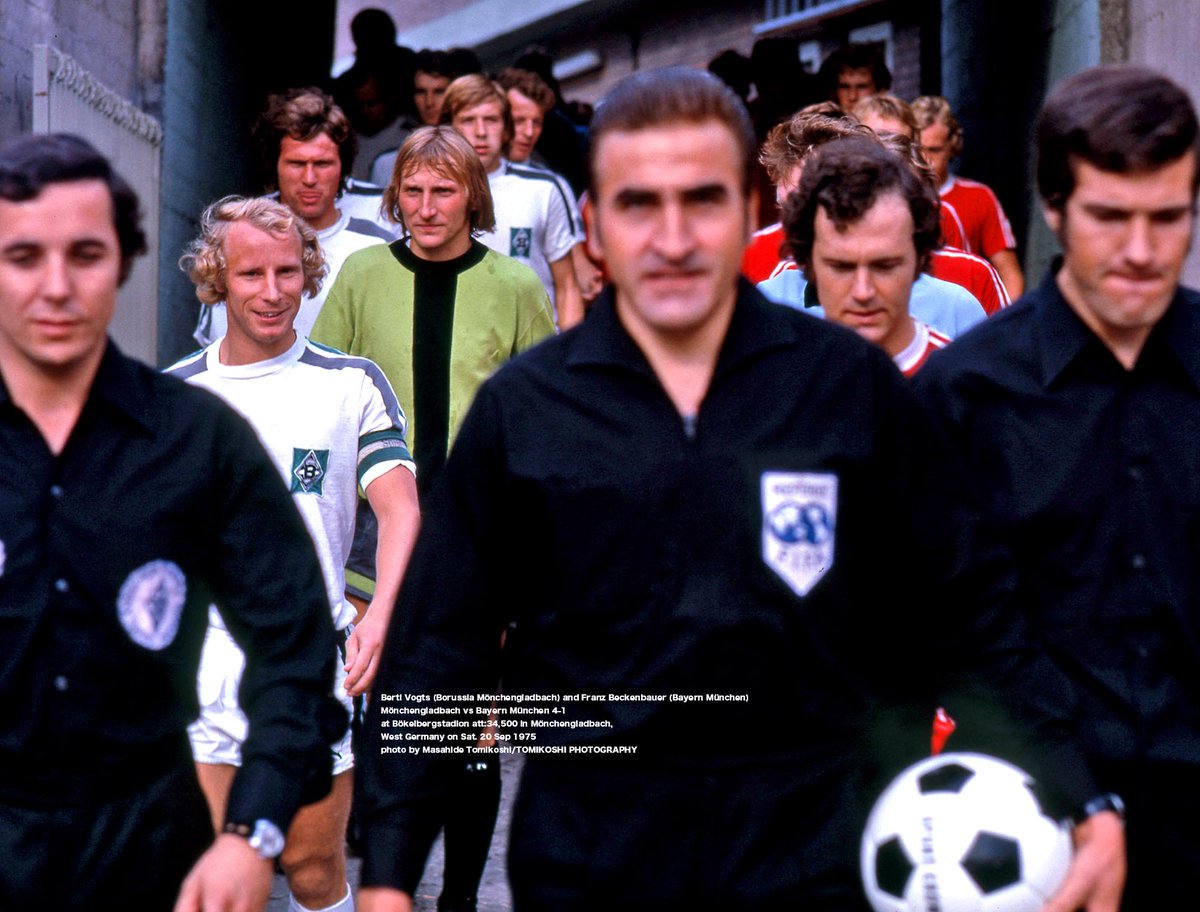
[[[797,595],[833,566],[836,527],[836,475],[762,474],[762,559]]]

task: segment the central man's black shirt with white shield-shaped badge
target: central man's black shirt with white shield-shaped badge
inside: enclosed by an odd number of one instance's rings
[[[404,695],[488,694],[502,673],[508,694],[605,695],[551,702],[550,718],[611,727],[538,728],[536,745],[637,746],[613,763],[850,775],[895,704],[918,733],[892,746],[916,760],[956,672],[1028,688],[1039,732],[1062,742],[1062,689],[1007,613],[1008,565],[961,478],[852,332],[743,282],[698,414],[682,418],[602,298],[484,384],[431,492],[376,683],[396,698],[372,701],[359,766],[364,886],[416,886],[451,782],[449,760],[380,755],[380,722],[424,712]],[[816,566],[797,540],[832,550]],[[786,566],[816,572],[806,592]],[[1094,793],[1060,758],[1070,799]]]

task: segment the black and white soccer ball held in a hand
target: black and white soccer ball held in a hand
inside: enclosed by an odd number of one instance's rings
[[[875,912],[1037,912],[1069,863],[1069,830],[1042,810],[1033,779],[982,754],[943,754],[896,776],[860,853]]]

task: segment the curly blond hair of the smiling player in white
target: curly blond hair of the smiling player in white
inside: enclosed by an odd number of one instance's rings
[[[269,197],[224,197],[212,203],[200,216],[200,236],[187,245],[179,268],[196,284],[196,296],[204,304],[226,298],[224,240],[234,222],[250,222],[270,234],[295,232],[300,236],[300,262],[304,266],[304,293],[320,290],[328,266],[314,232],[306,221],[286,205]]]

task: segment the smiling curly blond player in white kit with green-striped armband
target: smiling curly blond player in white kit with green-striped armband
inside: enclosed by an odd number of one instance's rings
[[[302,295],[320,284],[323,260],[316,233],[287,206],[265,198],[215,203],[184,263],[200,300],[224,301],[229,328],[169,372],[241,412],[289,485],[344,637],[334,688],[348,703],[373,680],[418,524],[404,415],[372,361],[316,346],[293,328]],[[374,599],[355,625],[343,568],[360,487],[379,517],[379,552]],[[212,613],[200,662],[202,714],[190,736],[200,786],[221,821],[246,721],[238,706],[242,656]],[[300,810],[281,847],[294,912],[354,908],[343,852],[353,792],[349,737],[332,751],[329,797]]]

